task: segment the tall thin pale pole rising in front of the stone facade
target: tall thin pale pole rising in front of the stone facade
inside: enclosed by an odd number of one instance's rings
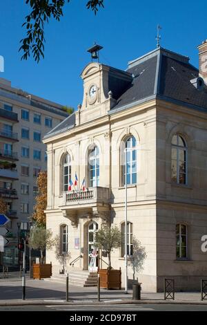
[[[137,150],[137,147],[124,149],[125,152],[125,293],[128,293],[128,265],[127,265],[127,153]],[[137,172],[137,170],[136,170]]]

